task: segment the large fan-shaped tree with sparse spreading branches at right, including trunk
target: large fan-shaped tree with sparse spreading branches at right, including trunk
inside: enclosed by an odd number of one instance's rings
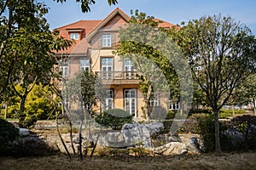
[[[255,37],[246,26],[221,15],[190,20],[176,32],[172,37],[188,57],[194,81],[212,108],[215,150],[220,153],[218,113],[255,71]]]

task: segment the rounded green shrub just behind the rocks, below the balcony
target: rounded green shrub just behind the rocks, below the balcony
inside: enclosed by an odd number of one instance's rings
[[[104,127],[112,127],[113,130],[120,130],[125,123],[131,123],[133,116],[121,109],[110,109],[103,111],[95,117],[95,121]]]

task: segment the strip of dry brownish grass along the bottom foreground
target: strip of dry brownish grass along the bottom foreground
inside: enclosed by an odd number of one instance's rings
[[[256,169],[256,153],[224,153],[222,156],[94,156],[83,161],[67,156],[0,157],[0,169]]]

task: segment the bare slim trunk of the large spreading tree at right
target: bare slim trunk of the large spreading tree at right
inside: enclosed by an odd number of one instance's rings
[[[218,110],[214,110],[214,127],[215,127],[215,152],[216,154],[221,153],[220,135],[219,135],[219,122],[218,122]]]

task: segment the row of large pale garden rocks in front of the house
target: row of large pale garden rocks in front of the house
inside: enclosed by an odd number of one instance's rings
[[[102,131],[100,138],[98,139],[97,145],[108,146],[113,148],[126,148],[140,146],[148,150],[152,150],[154,154],[160,155],[183,155],[183,154],[198,154],[201,152],[201,144],[198,135],[163,135],[160,139],[165,144],[159,147],[154,147],[152,144],[151,136],[154,133],[159,133],[163,127],[162,123],[149,123],[149,124],[125,124],[119,131]],[[90,141],[95,142],[98,133],[90,133]],[[57,134],[48,134],[45,136],[38,136],[29,132],[28,129],[20,128],[20,141],[19,144],[22,146],[27,145],[31,148],[41,149],[49,146],[55,150],[61,150],[66,152],[61,139]],[[70,134],[61,134],[62,139],[67,145],[67,150],[73,153],[71,144]],[[88,139],[82,139],[83,143]],[[73,146],[76,152],[79,148],[79,134],[73,133]],[[43,148],[42,148],[43,149]]]

